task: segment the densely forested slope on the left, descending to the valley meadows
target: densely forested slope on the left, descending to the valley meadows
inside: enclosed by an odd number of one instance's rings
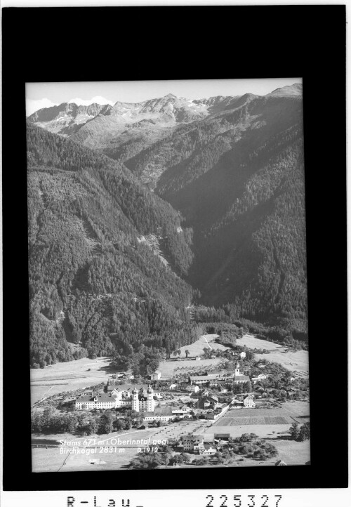
[[[123,164],[31,124],[27,165],[32,364],[196,339],[192,288],[179,276],[191,234],[179,213]]]

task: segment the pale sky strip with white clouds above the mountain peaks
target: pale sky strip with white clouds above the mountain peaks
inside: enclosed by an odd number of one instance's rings
[[[27,116],[42,107],[64,102],[77,105],[111,104],[118,101],[140,103],[168,93],[188,99],[213,96],[266,95],[275,88],[302,83],[302,79],[188,79],[178,81],[80,81],[64,83],[27,83]]]

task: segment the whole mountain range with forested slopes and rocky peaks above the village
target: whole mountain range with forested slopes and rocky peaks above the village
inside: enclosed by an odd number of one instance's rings
[[[28,117],[27,132],[34,321],[53,342],[60,334],[61,345],[108,352],[111,336],[129,332],[121,299],[126,319],[135,301],[161,305],[164,327],[149,326],[147,307],[149,327],[137,317],[135,336],[164,346],[173,329],[168,348],[184,344],[180,322],[195,336],[192,301],[307,329],[302,85],[266,96],[63,103]],[[39,276],[38,265],[55,275]],[[121,279],[128,271],[125,286],[110,281],[115,269]],[[113,307],[95,334],[81,309],[94,307],[89,298]]]

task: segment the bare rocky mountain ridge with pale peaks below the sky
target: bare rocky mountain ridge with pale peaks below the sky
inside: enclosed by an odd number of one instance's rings
[[[277,88],[268,95],[297,96],[301,93],[302,85],[294,84]],[[179,124],[189,124],[208,115],[240,107],[258,97],[260,96],[253,93],[245,93],[243,96],[214,96],[190,100],[168,93],[164,97],[140,103],[117,101],[113,106],[62,103],[44,107],[27,119],[50,132],[63,136],[75,135],[74,140],[88,147],[110,150],[116,147],[114,138],[125,134],[125,131],[131,129],[130,137],[135,138],[135,127],[138,127],[144,143],[147,143],[150,136],[153,142],[167,136],[169,129],[174,129]],[[111,150],[108,154],[113,155]]]

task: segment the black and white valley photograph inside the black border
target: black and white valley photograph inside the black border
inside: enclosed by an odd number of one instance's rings
[[[303,83],[27,83],[32,470],[310,465]]]

